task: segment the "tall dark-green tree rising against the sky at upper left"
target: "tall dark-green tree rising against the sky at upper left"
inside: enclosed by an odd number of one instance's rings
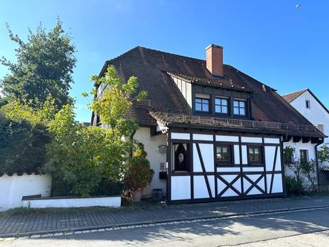
[[[57,20],[50,32],[38,26],[36,34],[29,30],[27,42],[10,30],[9,37],[19,47],[16,51],[16,63],[0,58],[1,64],[8,67],[10,73],[1,80],[5,104],[12,98],[38,99],[34,107],[41,106],[49,95],[55,99],[58,110],[65,104],[71,104],[69,89],[73,83],[72,73],[75,67],[75,46],[71,36],[62,29],[62,22]]]

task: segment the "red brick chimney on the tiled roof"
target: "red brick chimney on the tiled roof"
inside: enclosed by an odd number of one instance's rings
[[[207,69],[212,75],[223,76],[223,47],[209,45],[206,48]]]

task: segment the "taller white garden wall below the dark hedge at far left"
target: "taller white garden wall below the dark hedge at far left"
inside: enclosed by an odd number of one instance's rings
[[[0,211],[22,206],[22,196],[41,194],[49,197],[51,176],[23,174],[23,176],[3,175],[0,177]]]

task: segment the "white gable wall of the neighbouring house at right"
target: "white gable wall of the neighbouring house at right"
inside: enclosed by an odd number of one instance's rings
[[[305,101],[310,101],[310,108],[306,108]],[[324,134],[329,136],[329,113],[317,102],[317,100],[308,92],[305,91],[298,96],[291,103],[296,110],[298,110],[308,121],[314,126],[324,124]],[[329,143],[329,139],[324,139],[324,143]]]

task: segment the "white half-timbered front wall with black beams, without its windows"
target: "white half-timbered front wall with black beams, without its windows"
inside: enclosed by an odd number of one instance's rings
[[[179,139],[182,137],[182,139]],[[169,154],[169,201],[221,200],[250,197],[280,196],[284,194],[282,180],[282,148],[280,137],[240,137],[238,134],[203,134],[169,132],[169,150],[173,143],[189,143],[190,171],[174,172],[173,153]],[[216,165],[217,143],[232,146],[231,165]],[[247,147],[263,147],[263,164],[251,165]]]

